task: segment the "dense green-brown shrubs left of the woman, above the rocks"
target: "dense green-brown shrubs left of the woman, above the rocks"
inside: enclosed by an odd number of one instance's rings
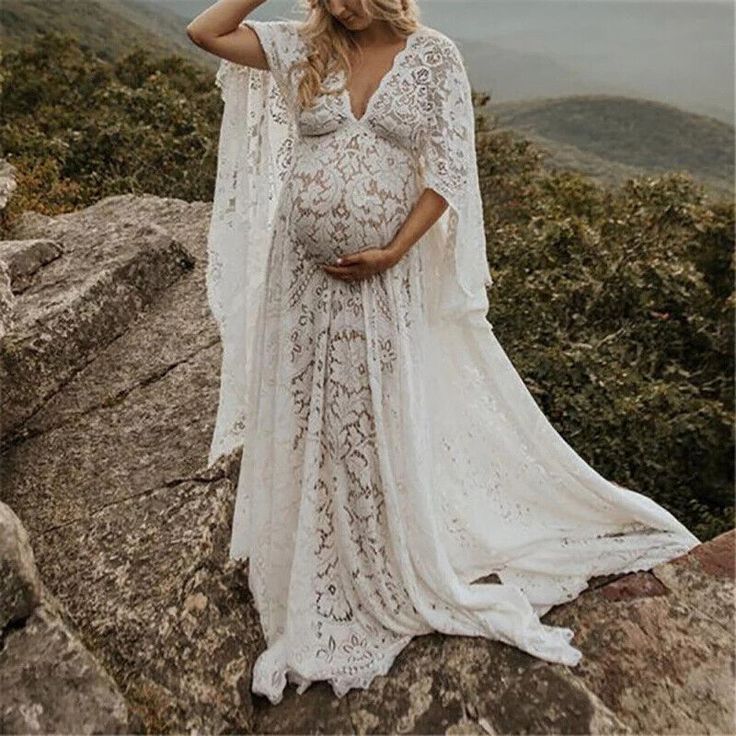
[[[212,74],[134,50],[109,63],[60,34],[3,59],[0,144],[20,170],[11,213],[112,194],[207,200],[220,100]]]

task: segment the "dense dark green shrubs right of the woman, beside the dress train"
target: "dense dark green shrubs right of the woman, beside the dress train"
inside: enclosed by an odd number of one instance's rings
[[[604,190],[478,136],[489,320],[555,427],[701,538],[733,526],[731,202],[680,174]],[[486,132],[483,132],[486,131]]]

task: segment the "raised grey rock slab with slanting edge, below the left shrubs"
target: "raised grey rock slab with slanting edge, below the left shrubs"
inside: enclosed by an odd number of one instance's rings
[[[155,224],[89,212],[46,221],[45,240],[25,236],[33,226],[21,220],[19,239],[31,242],[0,244],[17,315],[0,345],[6,442],[192,266],[184,248]]]

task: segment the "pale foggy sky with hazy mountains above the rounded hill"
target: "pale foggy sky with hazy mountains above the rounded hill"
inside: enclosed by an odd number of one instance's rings
[[[190,20],[210,0],[144,0]],[[460,46],[495,102],[613,94],[734,121],[731,2],[420,0],[425,23]],[[268,0],[255,18],[298,17]]]

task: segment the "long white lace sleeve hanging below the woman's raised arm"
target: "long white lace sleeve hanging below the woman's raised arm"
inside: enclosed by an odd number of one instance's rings
[[[296,135],[282,86],[286,50],[293,48],[290,26],[247,23],[257,26],[272,67],[254,69],[223,59],[215,77],[224,107],[206,285],[220,333],[222,365],[209,465],[242,445],[253,414],[255,341],[274,214]]]

